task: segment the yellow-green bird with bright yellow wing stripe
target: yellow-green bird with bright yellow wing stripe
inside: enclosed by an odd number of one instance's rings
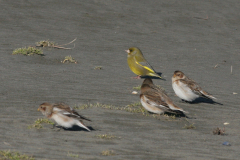
[[[128,53],[128,66],[129,68],[138,75],[135,78],[140,78],[140,76],[153,76],[160,77],[152,68],[152,66],[147,62],[147,60],[143,57],[143,54],[140,49],[136,47],[131,47],[126,50]]]

